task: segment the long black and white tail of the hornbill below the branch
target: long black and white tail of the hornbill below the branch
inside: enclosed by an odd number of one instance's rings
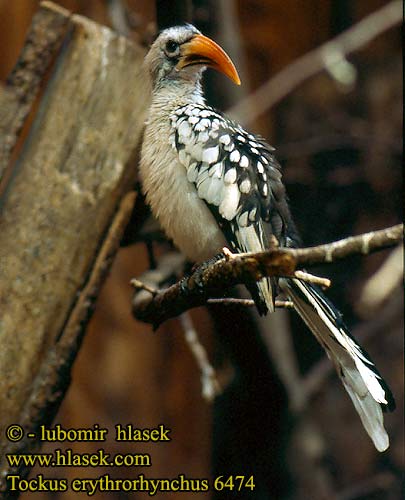
[[[374,363],[351,337],[340,312],[317,287],[295,279],[282,279],[280,288],[334,363],[375,447],[378,451],[386,450],[389,439],[384,429],[383,410],[392,411],[395,402]]]

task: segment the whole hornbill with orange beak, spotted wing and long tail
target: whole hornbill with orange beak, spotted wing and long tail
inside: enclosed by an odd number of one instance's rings
[[[289,209],[275,149],[262,137],[210,107],[202,76],[213,68],[235,84],[230,57],[191,24],[160,32],[144,60],[151,86],[140,157],[142,190],[167,236],[189,260],[260,252],[301,241]],[[380,452],[389,447],[383,411],[393,395],[342,315],[312,283],[264,278],[247,284],[260,314],[283,293],[325,349]]]

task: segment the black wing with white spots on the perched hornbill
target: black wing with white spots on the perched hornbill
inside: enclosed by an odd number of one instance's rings
[[[268,248],[274,234],[285,244],[290,214],[281,172],[269,145],[212,108],[187,105],[171,117],[173,146],[198,196],[237,252]],[[259,282],[273,310],[274,282]],[[262,311],[267,309],[262,304]],[[260,307],[259,307],[260,309]]]

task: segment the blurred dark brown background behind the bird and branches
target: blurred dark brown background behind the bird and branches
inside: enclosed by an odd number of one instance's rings
[[[111,25],[106,0],[56,3]],[[162,27],[173,19],[182,21],[181,16],[190,13],[188,20],[221,40],[244,76],[244,86],[234,92],[222,77],[208,75],[209,100],[225,110],[297,57],[387,2],[123,3],[136,41],[150,38],[156,19]],[[0,0],[0,80],[16,61],[37,7],[36,0]],[[279,152],[292,211],[306,245],[380,229],[400,220],[399,37],[398,29],[391,30],[349,57],[357,68],[356,85],[350,91],[322,73],[263,114],[252,127]],[[166,245],[160,247],[162,251]],[[179,322],[169,321],[153,334],[149,326],[131,317],[129,280],[148,266],[145,247],[137,244],[123,248],[116,258],[56,422],[65,428],[87,428],[94,423],[108,427],[107,451],[150,453],[153,466],[148,470],[36,470],[33,475],[41,472],[46,477],[72,479],[105,473],[135,477],[141,472],[154,478],[180,473],[194,478],[254,474],[255,491],[222,493],[218,498],[399,499],[404,466],[401,289],[396,288],[376,310],[359,305],[365,282],[388,253],[314,270],[333,280],[329,295],[354,332],[364,337],[366,350],[397,398],[398,409],[386,418],[392,443],[387,453],[374,450],[335,374],[321,376],[304,414],[292,416],[277,363],[268,356],[260,325],[246,311],[217,307],[210,313],[192,313],[225,386],[215,404],[208,405],[201,396],[200,375]],[[316,375],[324,353],[297,317],[280,317],[292,335],[300,373]],[[164,423],[172,429],[172,441],[143,446],[114,443],[118,423],[142,428]],[[302,443],[306,437],[309,445]],[[60,445],[45,446],[43,451],[57,447]],[[99,444],[70,447],[75,452],[92,452]],[[63,495],[70,498],[72,493]],[[37,499],[51,496],[59,495],[35,494]],[[95,498],[127,496],[138,498],[123,492],[97,493]],[[180,496],[157,494],[156,498]],[[202,496],[210,494],[192,498]],[[23,495],[28,497],[30,494]],[[187,494],[182,498],[188,498]]]

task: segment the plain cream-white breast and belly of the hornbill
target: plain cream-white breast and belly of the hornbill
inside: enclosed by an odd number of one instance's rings
[[[170,122],[149,120],[142,146],[140,174],[146,200],[166,234],[190,260],[219,253],[225,238],[207,205],[198,197],[180,164]]]

